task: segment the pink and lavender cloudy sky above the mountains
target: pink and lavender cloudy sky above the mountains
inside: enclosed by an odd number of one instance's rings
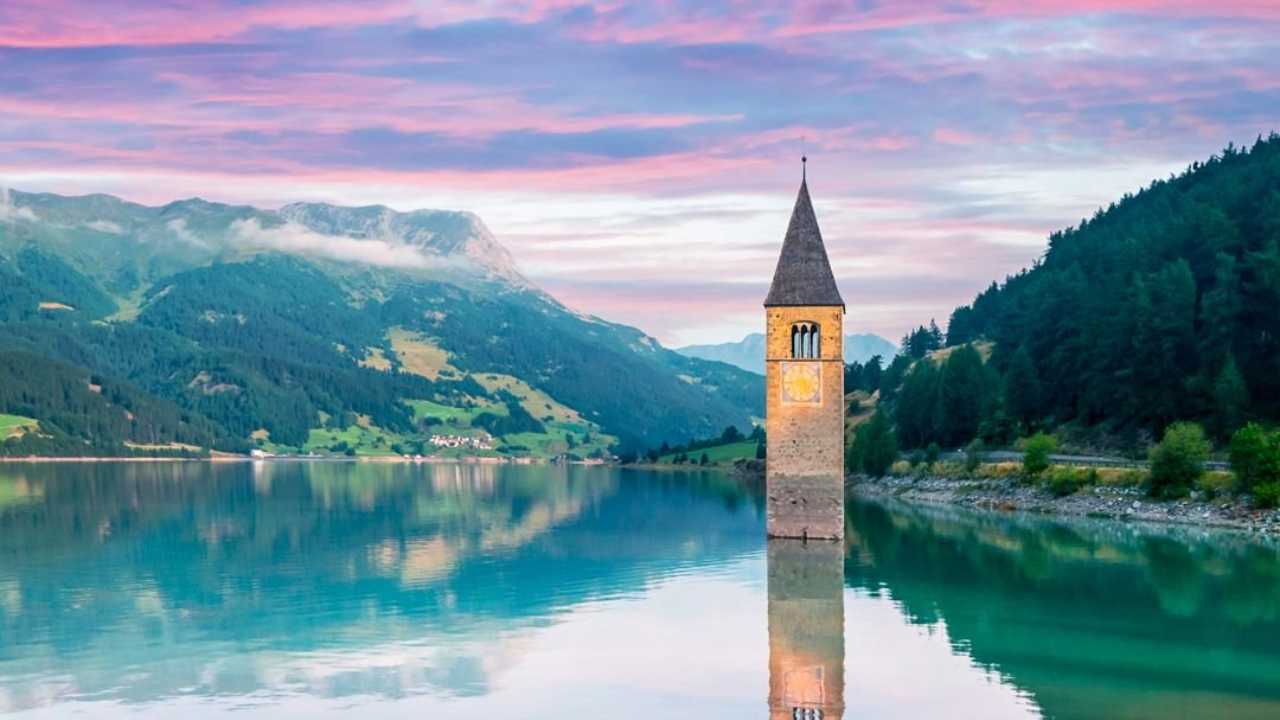
[[[0,3],[0,184],[474,210],[566,304],[740,338],[808,152],[847,328],[1280,129],[1280,1]]]

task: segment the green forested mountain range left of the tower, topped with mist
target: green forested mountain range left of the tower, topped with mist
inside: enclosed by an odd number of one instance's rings
[[[0,454],[586,456],[762,402],[561,305],[470,213],[0,192]]]

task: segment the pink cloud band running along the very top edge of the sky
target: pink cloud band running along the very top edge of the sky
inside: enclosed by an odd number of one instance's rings
[[[398,19],[433,27],[500,18],[521,23],[580,6],[580,0],[471,3],[463,0],[282,0],[241,4],[228,0],[173,0],[164,4],[101,0],[9,0],[0,8],[0,45],[74,47],[97,45],[173,45],[237,38],[255,28],[355,27]],[[1037,19],[1082,14],[1151,14],[1254,20],[1280,19],[1271,0],[1226,0],[1211,8],[1201,0],[987,0],[956,5],[947,0],[886,3],[873,9],[810,0],[794,5],[739,4],[713,12],[696,3],[655,3],[644,19],[621,1],[593,5],[573,35],[591,42],[667,42],[677,45],[765,42],[832,35],[991,19]],[[803,49],[797,49],[803,50]]]

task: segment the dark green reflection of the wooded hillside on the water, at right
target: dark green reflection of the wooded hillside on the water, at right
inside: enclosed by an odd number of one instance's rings
[[[1280,716],[1274,542],[896,501],[846,521],[859,596],[945,628],[1044,716]]]

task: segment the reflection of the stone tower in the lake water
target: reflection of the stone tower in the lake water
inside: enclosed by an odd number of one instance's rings
[[[845,712],[845,556],[840,542],[769,539],[769,719]]]

